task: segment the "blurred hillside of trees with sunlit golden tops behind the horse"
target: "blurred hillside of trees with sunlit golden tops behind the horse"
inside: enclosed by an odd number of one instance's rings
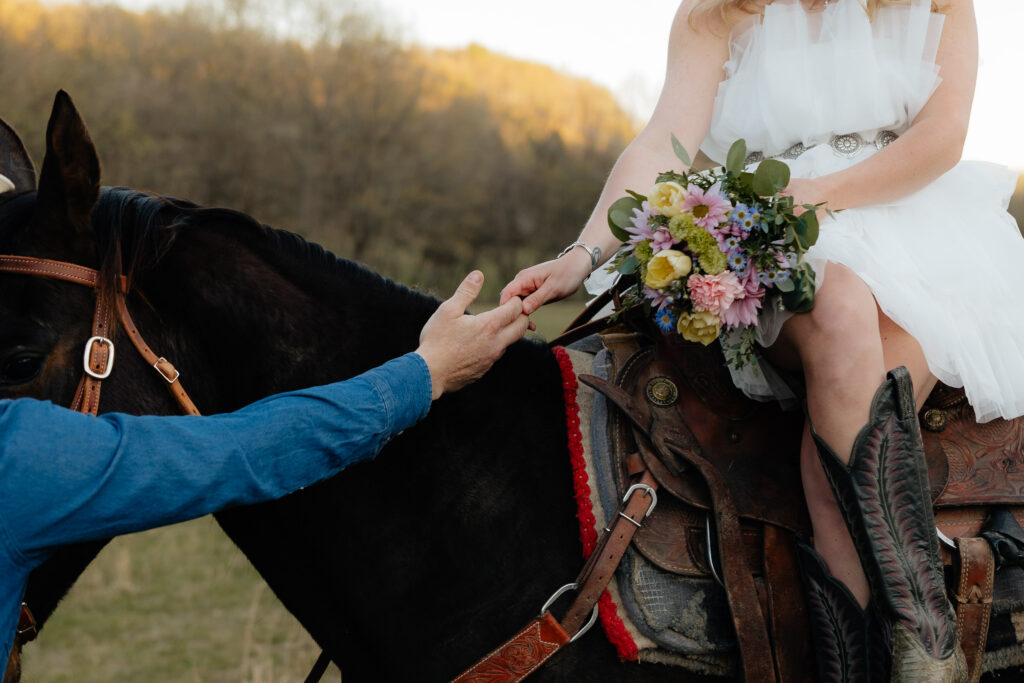
[[[634,123],[590,82],[410,46],[386,18],[0,0],[0,117],[39,164],[63,88],[104,184],[239,209],[439,293],[481,267],[495,297],[574,238]]]

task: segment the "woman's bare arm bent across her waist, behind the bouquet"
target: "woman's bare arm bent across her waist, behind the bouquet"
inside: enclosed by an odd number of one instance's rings
[[[972,0],[948,0],[936,54],[942,83],[910,128],[878,154],[819,178],[795,178],[798,204],[834,210],[881,204],[928,185],[959,161],[978,74],[978,28]]]

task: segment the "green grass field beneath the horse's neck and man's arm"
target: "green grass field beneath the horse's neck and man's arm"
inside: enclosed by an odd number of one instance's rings
[[[489,305],[474,306],[485,310]],[[535,313],[554,338],[579,302]],[[27,683],[302,681],[319,649],[212,517],[116,539],[25,651]],[[332,668],[325,680],[338,680]]]

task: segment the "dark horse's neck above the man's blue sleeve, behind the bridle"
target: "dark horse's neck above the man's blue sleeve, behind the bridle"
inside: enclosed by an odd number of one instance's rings
[[[203,376],[204,412],[345,379],[415,349],[436,301],[303,244],[273,231],[184,230],[141,283],[174,330],[180,362]]]

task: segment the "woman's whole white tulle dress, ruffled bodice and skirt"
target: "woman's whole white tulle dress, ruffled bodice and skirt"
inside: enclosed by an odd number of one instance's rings
[[[722,163],[741,137],[749,151],[788,164],[793,177],[876,154],[909,127],[941,80],[943,16],[930,7],[912,0],[869,20],[858,0],[819,11],[768,5],[732,32],[701,150]],[[819,279],[825,261],[856,271],[921,342],[932,372],[966,388],[981,421],[1024,414],[1024,240],[1006,211],[1015,177],[961,162],[913,195],[826,218],[808,252]],[[770,345],[787,315],[763,312],[759,341]],[[787,394],[765,362],[733,379],[757,398]]]

